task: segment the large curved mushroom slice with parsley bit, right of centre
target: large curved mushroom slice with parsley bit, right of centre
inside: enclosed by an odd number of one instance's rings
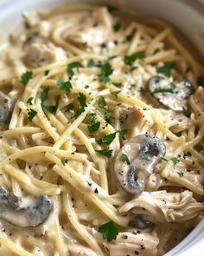
[[[155,136],[138,135],[124,144],[116,155],[113,174],[127,194],[143,192],[146,178],[165,155],[163,141]]]

